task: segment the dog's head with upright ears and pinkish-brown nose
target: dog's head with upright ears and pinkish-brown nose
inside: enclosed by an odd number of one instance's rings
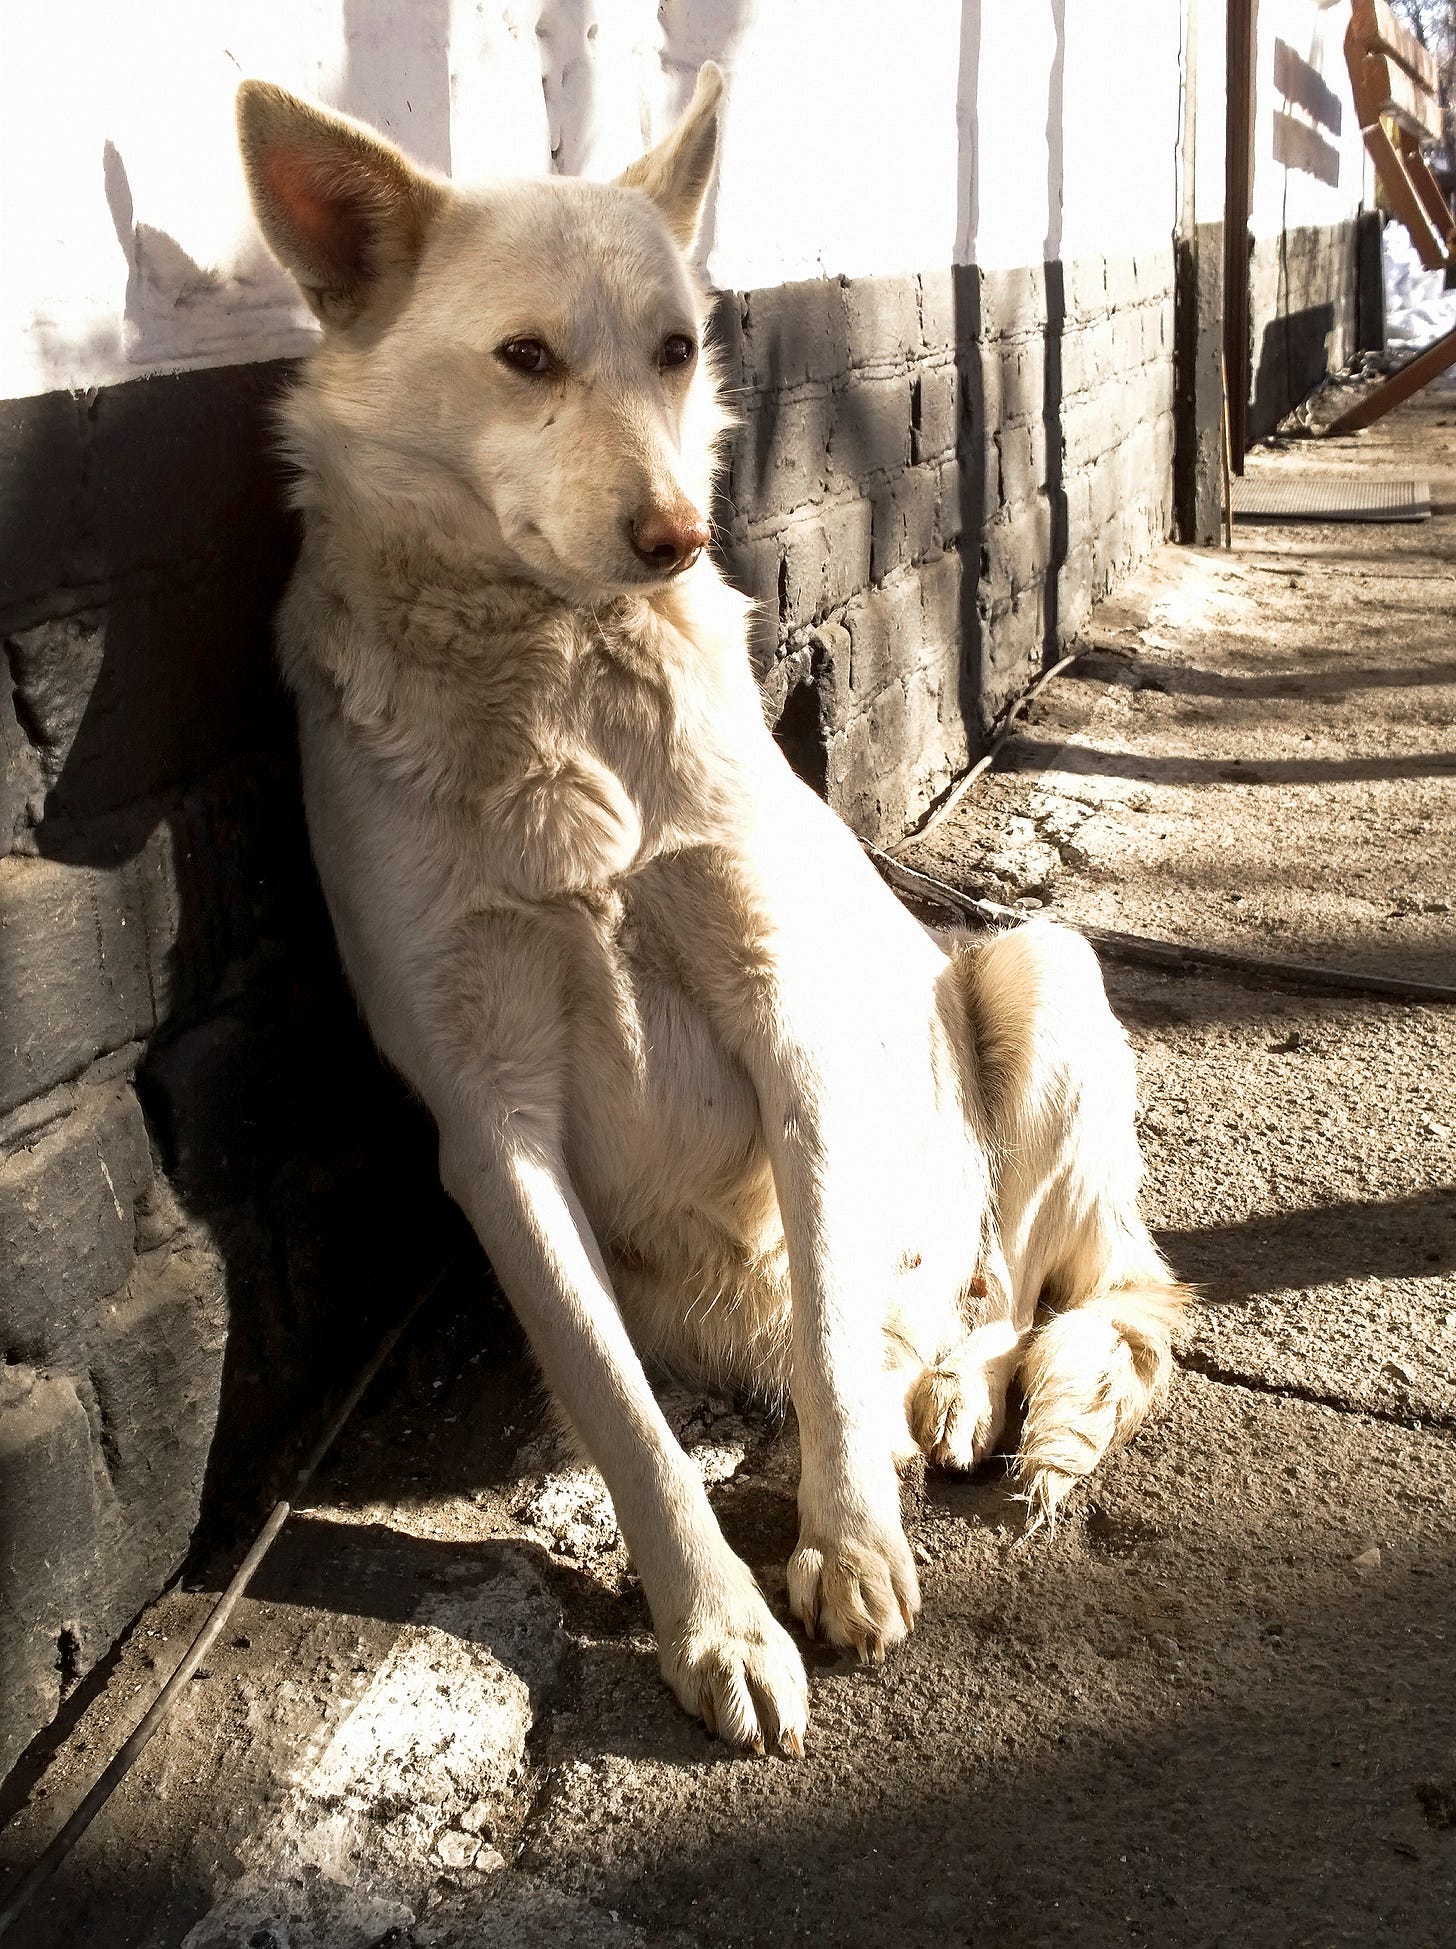
[[[437,526],[577,602],[690,567],[725,421],[684,253],[721,94],[709,62],[614,183],[460,191],[370,129],[244,82],[253,209],[324,325],[288,415],[304,499]]]

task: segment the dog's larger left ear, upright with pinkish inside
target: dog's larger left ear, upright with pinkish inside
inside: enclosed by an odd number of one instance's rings
[[[448,191],[370,129],[271,82],[238,90],[253,212],[326,325],[351,325],[413,273]]]

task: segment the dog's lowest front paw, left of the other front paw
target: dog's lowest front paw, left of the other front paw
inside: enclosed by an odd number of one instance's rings
[[[686,1620],[659,1633],[663,1678],[709,1733],[752,1752],[803,1756],[809,1680],[803,1659],[748,1571],[702,1594]]]

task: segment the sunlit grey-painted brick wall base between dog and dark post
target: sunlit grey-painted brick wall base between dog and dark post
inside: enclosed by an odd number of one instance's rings
[[[727,296],[719,520],[766,707],[899,838],[1169,532],[1173,253]]]

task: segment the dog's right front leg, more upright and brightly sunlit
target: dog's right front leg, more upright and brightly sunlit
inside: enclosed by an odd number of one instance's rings
[[[819,822],[828,842],[815,852],[803,838]],[[785,848],[784,832],[797,844]],[[789,1392],[803,1458],[789,1604],[811,1637],[881,1659],[920,1610],[895,1470],[902,1397],[895,1433],[885,1372],[902,1214],[883,1164],[904,1056],[873,1027],[879,990],[895,994],[895,967],[881,980],[824,951],[863,891],[844,873],[846,848],[860,869],[832,813],[797,785],[787,797],[776,785],[733,848],[643,875],[637,902],[676,939],[694,994],[758,1099],[789,1259]]]

